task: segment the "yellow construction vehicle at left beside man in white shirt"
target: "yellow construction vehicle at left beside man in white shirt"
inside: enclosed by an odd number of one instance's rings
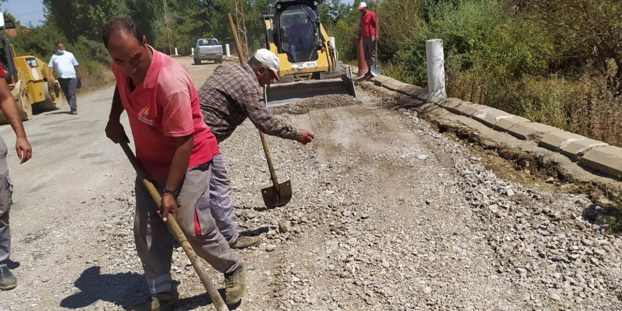
[[[49,77],[47,63],[39,58],[26,55],[17,56],[13,45],[6,37],[7,29],[15,29],[15,22],[0,12],[0,62],[6,75],[4,80],[9,85],[11,93],[17,103],[22,121],[32,118],[32,109],[35,111],[49,111],[60,108],[60,85],[54,77]],[[6,119],[0,113],[0,123],[6,124]]]

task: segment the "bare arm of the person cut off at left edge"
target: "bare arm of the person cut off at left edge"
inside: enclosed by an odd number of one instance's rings
[[[23,164],[32,157],[32,147],[30,147],[30,142],[28,142],[26,137],[24,124],[22,124],[22,119],[19,116],[19,111],[17,111],[17,104],[11,94],[11,90],[9,90],[9,85],[2,78],[0,78],[0,109],[2,109],[4,118],[11,124],[11,128],[15,132],[17,137],[15,151]]]

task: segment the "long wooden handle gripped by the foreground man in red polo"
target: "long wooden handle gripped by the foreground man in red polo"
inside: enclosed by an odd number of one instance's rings
[[[138,178],[141,180],[142,184],[145,185],[149,195],[151,195],[151,198],[156,203],[158,210],[162,211],[162,197],[157,191],[156,186],[154,186],[154,184],[146,178],[144,170],[142,170],[136,156],[134,156],[134,152],[132,152],[132,149],[128,146],[128,143],[124,140],[124,138],[119,137],[119,144],[121,145],[121,148],[123,148],[126,156],[128,156],[129,162],[134,167],[134,170],[136,170]],[[197,271],[198,278],[201,279],[203,286],[205,286],[205,290],[207,290],[207,293],[210,295],[211,303],[218,311],[228,311],[229,309],[225,305],[223,297],[220,297],[218,290],[216,290],[216,287],[214,287],[214,284],[211,282],[210,276],[207,275],[205,265],[202,261],[200,261],[197,253],[195,253],[194,249],[192,249],[192,246],[190,246],[190,242],[186,239],[182,228],[179,227],[177,220],[175,220],[175,217],[172,214],[169,214],[166,223],[169,225],[169,230],[173,236],[175,236],[175,239],[179,241],[179,244],[182,244],[183,251],[186,253],[186,256],[188,256],[188,259],[190,259],[192,267],[194,267],[195,271]]]

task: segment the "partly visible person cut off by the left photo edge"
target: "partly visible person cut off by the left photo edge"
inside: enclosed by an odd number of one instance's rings
[[[32,147],[26,137],[24,124],[17,112],[17,104],[4,80],[4,68],[0,64],[0,109],[13,132],[15,132],[15,150],[17,157],[24,164],[32,157]],[[9,290],[17,287],[17,279],[9,270],[9,254],[11,253],[11,228],[9,228],[9,210],[12,204],[13,184],[9,179],[9,165],[6,162],[8,148],[0,137],[0,289]]]

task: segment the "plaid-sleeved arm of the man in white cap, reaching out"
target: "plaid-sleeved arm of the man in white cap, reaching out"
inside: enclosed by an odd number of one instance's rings
[[[266,101],[256,85],[248,85],[241,93],[238,97],[239,106],[259,131],[284,139],[293,139],[302,144],[307,144],[313,139],[312,133],[304,129],[296,129],[273,116],[268,111]]]

